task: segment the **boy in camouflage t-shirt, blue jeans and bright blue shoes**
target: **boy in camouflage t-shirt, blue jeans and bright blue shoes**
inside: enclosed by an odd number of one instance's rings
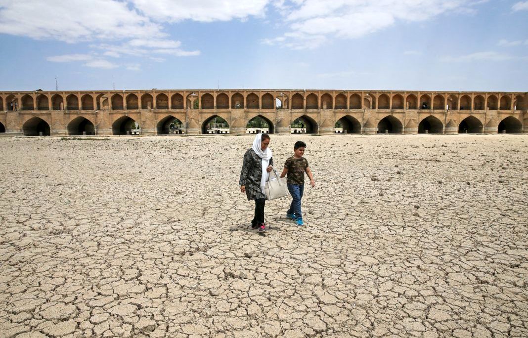
[[[303,198],[304,192],[304,173],[308,175],[312,187],[315,187],[314,177],[312,171],[308,167],[308,161],[303,157],[306,144],[302,141],[297,141],[294,145],[294,156],[286,160],[284,170],[280,177],[286,176],[286,183],[288,184],[288,191],[290,192],[293,201],[291,201],[290,209],[286,212],[286,217],[294,220],[298,226],[303,226],[303,213],[300,210],[300,200]]]

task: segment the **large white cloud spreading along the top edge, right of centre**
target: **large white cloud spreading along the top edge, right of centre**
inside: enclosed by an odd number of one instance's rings
[[[425,22],[444,13],[468,13],[473,0],[298,0],[274,5],[285,14],[290,31],[265,39],[266,44],[314,49],[329,37],[355,39],[398,22]],[[316,39],[310,39],[311,36]]]

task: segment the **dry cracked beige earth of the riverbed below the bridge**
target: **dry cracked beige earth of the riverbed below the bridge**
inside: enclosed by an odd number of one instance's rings
[[[0,337],[528,336],[526,135],[298,138],[265,235],[252,136],[0,139]]]

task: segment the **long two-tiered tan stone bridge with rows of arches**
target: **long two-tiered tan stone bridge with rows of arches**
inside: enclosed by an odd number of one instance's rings
[[[124,135],[137,122],[144,135],[204,134],[221,117],[246,133],[259,116],[270,133],[528,133],[527,92],[380,90],[121,90],[0,92],[0,133]],[[176,120],[177,119],[177,120]]]

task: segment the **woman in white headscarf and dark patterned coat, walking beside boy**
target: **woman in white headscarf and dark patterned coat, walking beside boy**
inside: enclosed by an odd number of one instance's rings
[[[251,221],[251,229],[259,232],[266,231],[264,223],[264,206],[266,205],[266,194],[264,186],[269,178],[269,172],[273,165],[268,134],[257,134],[253,140],[253,146],[244,154],[244,163],[240,173],[240,191],[246,193],[249,200],[255,201],[255,216]]]

